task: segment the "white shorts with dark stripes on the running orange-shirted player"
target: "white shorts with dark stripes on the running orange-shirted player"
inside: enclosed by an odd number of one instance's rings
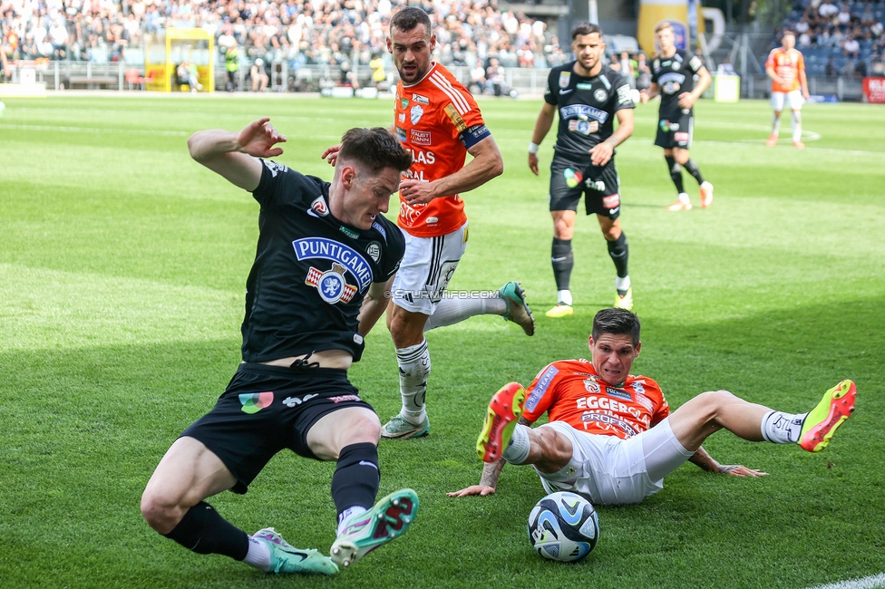
[[[440,237],[414,237],[406,231],[403,237],[405,254],[391,300],[406,311],[432,315],[467,249],[467,224]]]

